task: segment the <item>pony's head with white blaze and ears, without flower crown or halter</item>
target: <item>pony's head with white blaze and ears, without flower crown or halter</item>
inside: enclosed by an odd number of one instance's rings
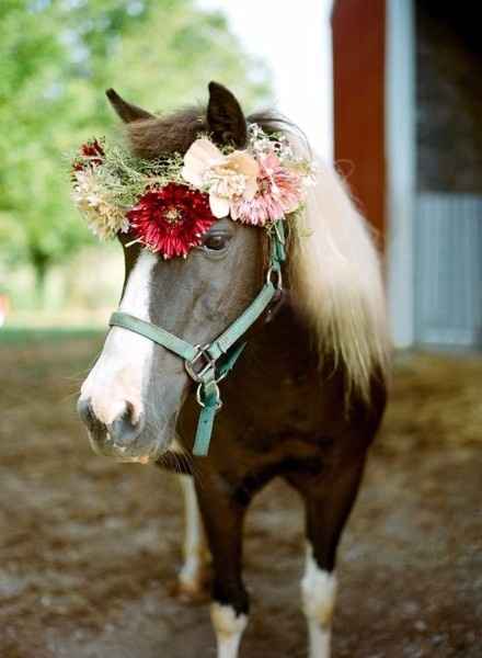
[[[107,95],[124,122],[131,150],[146,159],[184,154],[199,134],[243,147],[246,120],[227,89],[209,86],[207,110],[161,118]],[[260,287],[262,239],[253,226],[221,218],[188,258],[165,260],[119,234],[125,281],[119,310],[205,344],[223,331]],[[156,458],[173,438],[192,386],[183,361],[148,338],[113,327],[81,388],[78,408],[93,449],[123,461]]]

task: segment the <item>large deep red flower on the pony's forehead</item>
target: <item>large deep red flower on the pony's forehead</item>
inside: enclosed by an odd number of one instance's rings
[[[185,257],[216,222],[208,195],[179,183],[146,192],[127,218],[134,235],[165,259]]]

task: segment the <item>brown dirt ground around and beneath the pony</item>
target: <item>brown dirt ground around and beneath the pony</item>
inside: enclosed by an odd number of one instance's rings
[[[0,657],[215,656],[170,595],[174,476],[95,456],[74,413],[99,340],[0,344]],[[482,360],[399,358],[340,548],[334,657],[482,656]],[[302,518],[275,483],[249,518],[241,656],[306,656]]]

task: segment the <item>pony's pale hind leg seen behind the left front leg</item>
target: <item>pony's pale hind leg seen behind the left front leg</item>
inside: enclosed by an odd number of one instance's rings
[[[209,575],[209,551],[191,475],[180,475],[184,495],[184,564],[179,574],[176,593],[183,599],[204,598]]]

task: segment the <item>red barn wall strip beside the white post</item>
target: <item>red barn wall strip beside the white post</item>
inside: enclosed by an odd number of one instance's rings
[[[386,226],[385,0],[335,0],[334,155],[382,242]]]

